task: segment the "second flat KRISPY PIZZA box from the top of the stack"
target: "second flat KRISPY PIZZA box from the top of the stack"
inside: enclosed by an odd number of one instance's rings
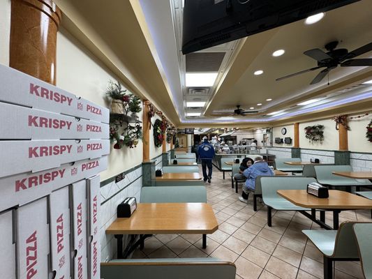
[[[109,139],[109,124],[0,103],[1,140]]]

